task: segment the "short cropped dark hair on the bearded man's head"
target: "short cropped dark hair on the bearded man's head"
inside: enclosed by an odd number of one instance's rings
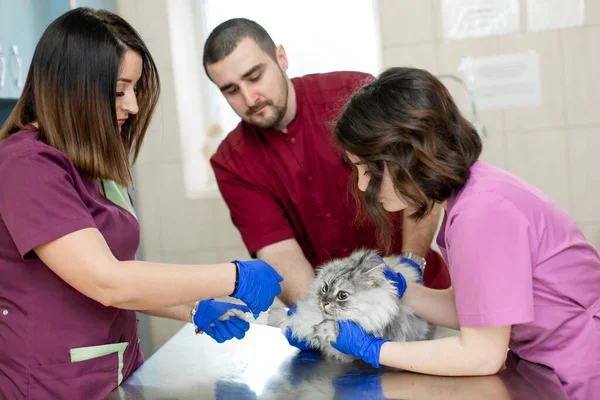
[[[265,28],[246,18],[232,18],[213,29],[204,43],[202,64],[209,78],[207,66],[227,57],[245,38],[254,40],[269,57],[277,62],[275,52],[277,46]]]

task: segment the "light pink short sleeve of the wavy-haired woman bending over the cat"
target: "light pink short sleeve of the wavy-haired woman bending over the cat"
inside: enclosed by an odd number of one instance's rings
[[[463,204],[452,210],[446,231],[460,325],[532,321],[533,228],[512,202],[499,195],[480,193],[460,201]]]

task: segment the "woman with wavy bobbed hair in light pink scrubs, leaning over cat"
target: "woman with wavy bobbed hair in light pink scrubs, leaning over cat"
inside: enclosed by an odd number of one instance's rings
[[[454,376],[494,374],[510,348],[552,368],[570,398],[600,398],[598,251],[548,196],[478,161],[478,133],[434,76],[383,72],[351,98],[335,135],[384,241],[386,211],[409,208],[421,218],[444,208],[437,243],[452,287],[384,273],[417,315],[460,330],[395,343],[342,322],[336,348],[374,366]]]

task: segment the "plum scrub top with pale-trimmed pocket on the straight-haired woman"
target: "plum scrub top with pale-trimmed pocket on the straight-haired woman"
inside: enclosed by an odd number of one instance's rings
[[[134,311],[105,307],[32,249],[97,228],[135,259],[137,219],[28,125],[0,144],[0,398],[100,399],[143,362]]]

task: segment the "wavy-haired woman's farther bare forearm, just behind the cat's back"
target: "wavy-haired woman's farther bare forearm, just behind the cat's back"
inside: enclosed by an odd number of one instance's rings
[[[402,303],[426,321],[451,329],[460,329],[454,289],[429,289],[409,282]]]

